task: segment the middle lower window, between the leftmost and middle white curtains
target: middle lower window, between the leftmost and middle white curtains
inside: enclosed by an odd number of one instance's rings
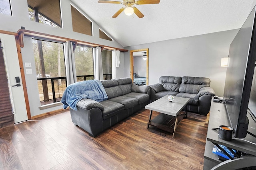
[[[92,48],[76,46],[74,56],[77,81],[94,79]]]

